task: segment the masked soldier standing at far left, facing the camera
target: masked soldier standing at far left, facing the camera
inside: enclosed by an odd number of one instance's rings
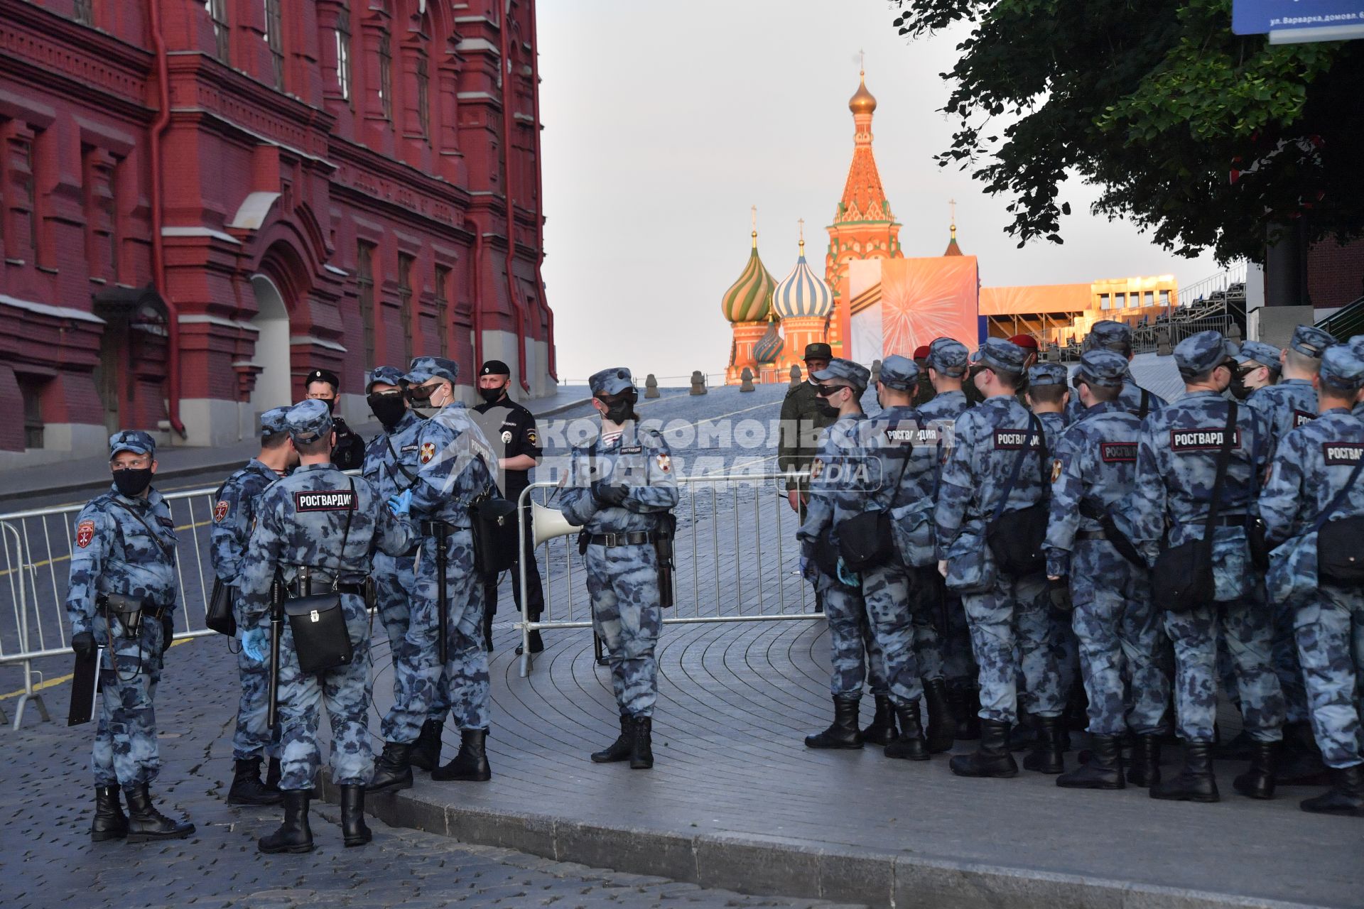
[[[90,838],[180,839],[194,825],[166,818],[149,786],[161,771],[153,700],[161,660],[175,632],[176,533],[161,493],[151,436],[125,429],[109,436],[113,487],[76,515],[67,586],[71,649],[100,662],[100,721],[94,735],[95,808]],[[140,612],[119,615],[110,598],[140,601]],[[119,788],[128,815],[119,804]]]

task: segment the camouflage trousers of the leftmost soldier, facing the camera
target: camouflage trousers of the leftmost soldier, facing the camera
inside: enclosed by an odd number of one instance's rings
[[[94,732],[91,770],[97,786],[130,789],[151,782],[161,771],[157,747],[157,711],[153,700],[161,681],[161,623],[142,621],[135,636],[124,636],[115,623],[109,642],[101,616],[94,619],[94,639],[106,646],[100,661],[100,720]]]

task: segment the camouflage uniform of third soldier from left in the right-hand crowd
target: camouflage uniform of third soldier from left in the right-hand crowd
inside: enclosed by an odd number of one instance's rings
[[[960,375],[967,368],[966,345],[951,338],[938,338],[929,345],[928,365],[944,375]],[[936,440],[936,448],[929,452],[926,447],[917,447],[915,459],[929,458],[930,463],[915,463],[910,473],[919,478],[919,492],[929,497],[929,504],[936,506],[938,487],[943,478],[943,465],[952,450],[952,436],[956,418],[970,409],[966,394],[962,391],[945,391],[933,395],[933,399],[915,406],[918,421],[923,429],[930,431]],[[929,522],[932,523],[932,512]],[[930,564],[918,568],[922,591],[921,600],[929,612],[941,611],[943,628],[940,649],[943,654],[943,675],[948,684],[962,688],[975,684],[979,668],[971,654],[971,631],[966,623],[966,608],[962,597],[948,590],[943,583],[943,575],[937,566]],[[932,677],[932,676],[926,676]]]

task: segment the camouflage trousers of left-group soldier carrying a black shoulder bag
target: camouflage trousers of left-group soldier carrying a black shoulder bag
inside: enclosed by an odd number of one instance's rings
[[[435,546],[435,538],[426,537],[416,561],[416,594],[412,597],[408,631],[400,647],[402,660],[411,661],[413,666],[411,675],[405,676],[411,688],[404,692],[401,714],[393,724],[394,737],[389,741],[416,741],[426,720],[445,715],[443,710],[436,711],[442,703],[449,703],[458,729],[487,729],[490,724],[488,654],[483,649],[483,581],[473,567],[473,531],[466,527],[451,530],[446,540],[447,634],[443,666],[439,665],[436,647],[441,621],[436,609],[439,581]],[[398,706],[394,702],[394,707]]]

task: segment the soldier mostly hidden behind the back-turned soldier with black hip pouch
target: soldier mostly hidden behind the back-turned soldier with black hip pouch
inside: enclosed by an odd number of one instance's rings
[[[289,446],[289,428],[284,422],[288,407],[274,407],[261,414],[261,454],[228,477],[213,496],[213,527],[209,531],[209,553],[218,581],[232,589],[236,597],[241,576],[241,556],[255,526],[255,508],[261,493],[271,482],[297,465],[297,454]],[[237,602],[233,616],[244,624]],[[246,650],[237,650],[237,679],[241,698],[237,703],[237,729],[232,736],[232,786],[229,805],[280,804],[280,755],[270,741],[265,725],[270,687],[269,660],[252,660]],[[270,770],[261,782],[261,762],[269,752]]]

